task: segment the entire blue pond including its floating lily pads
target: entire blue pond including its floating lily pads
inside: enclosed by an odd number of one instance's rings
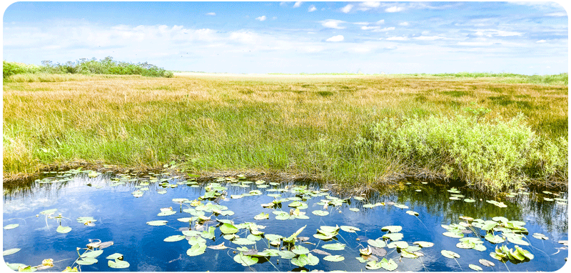
[[[4,186],[3,254],[16,271],[556,271],[567,207],[566,192],[74,169]]]

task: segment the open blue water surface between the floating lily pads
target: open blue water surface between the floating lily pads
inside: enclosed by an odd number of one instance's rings
[[[65,177],[66,175],[67,177]],[[83,271],[290,271],[300,269],[320,269],[325,271],[331,270],[347,270],[361,271],[365,270],[365,263],[361,263],[355,257],[361,257],[359,249],[367,247],[368,239],[377,239],[388,232],[383,232],[382,227],[397,225],[402,227],[399,232],[403,234],[400,241],[414,245],[413,242],[425,241],[433,242],[433,247],[424,247],[418,252],[423,256],[417,259],[409,259],[401,257],[400,250],[384,247],[386,254],[379,259],[393,259],[397,264],[395,271],[471,271],[469,264],[475,264],[482,267],[484,271],[555,271],[565,264],[568,250],[563,244],[558,243],[561,240],[567,240],[567,204],[557,204],[555,201],[547,202],[543,197],[555,197],[552,194],[530,193],[517,194],[511,198],[497,199],[498,202],[504,202],[507,207],[497,207],[494,204],[485,202],[485,200],[493,200],[492,197],[486,197],[479,192],[470,191],[469,189],[460,188],[463,198],[471,198],[476,201],[473,203],[460,200],[450,200],[450,192],[447,188],[438,187],[434,184],[421,184],[420,182],[411,182],[410,184],[398,184],[390,189],[381,189],[375,194],[363,196],[364,200],[358,200],[348,195],[336,195],[333,192],[320,191],[318,184],[291,184],[281,183],[279,185],[268,185],[266,188],[258,188],[256,183],[246,184],[246,187],[237,187],[230,182],[218,182],[221,186],[226,187],[226,199],[221,198],[218,204],[226,206],[233,215],[212,215],[211,219],[231,219],[234,224],[244,222],[253,222],[263,225],[265,228],[258,229],[265,234],[278,234],[283,237],[289,237],[301,227],[305,227],[298,237],[308,237],[308,241],[295,242],[295,245],[301,245],[308,250],[320,249],[333,255],[341,255],[344,260],[341,262],[330,262],[325,259],[324,254],[310,252],[318,258],[318,264],[305,265],[300,268],[290,262],[290,259],[283,257],[269,257],[258,259],[257,264],[251,266],[243,266],[233,259],[239,251],[240,247],[221,237],[221,229],[217,227],[219,223],[216,221],[206,222],[203,227],[216,227],[215,239],[206,239],[207,246],[213,246],[224,242],[226,247],[232,249],[209,249],[206,248],[203,254],[189,257],[186,252],[192,246],[187,239],[178,242],[164,242],[163,239],[172,235],[181,235],[181,230],[188,229],[188,222],[179,222],[177,219],[182,217],[193,217],[187,212],[181,212],[181,205],[173,202],[172,199],[186,198],[190,201],[198,199],[205,194],[206,183],[187,184],[186,179],[169,178],[168,175],[151,175],[157,177],[158,181],[152,180],[148,186],[141,182],[149,182],[146,177],[118,177],[114,174],[102,174],[98,177],[90,178],[86,172],[77,174],[51,174],[56,179],[64,179],[68,181],[54,183],[30,182],[24,186],[7,187],[4,186],[4,204],[3,204],[3,226],[9,224],[19,224],[14,229],[3,229],[3,250],[19,248],[19,252],[4,256],[4,261],[9,263],[21,263],[31,266],[41,264],[44,259],[53,259],[54,267],[45,269],[46,271],[61,271],[66,267],[77,267],[74,264],[79,257],[76,251],[77,247],[86,248],[89,239],[93,242],[112,241],[113,245],[106,247],[103,254],[96,257],[98,262],[91,265],[82,265]],[[240,179],[238,183],[246,181]],[[46,180],[42,180],[46,181]],[[125,182],[124,184],[116,184],[116,182]],[[160,183],[168,183],[168,187],[161,186]],[[214,182],[214,181],[212,181]],[[86,184],[91,184],[91,187]],[[234,183],[236,184],[236,183]],[[176,187],[170,187],[176,185]],[[191,187],[193,186],[193,187]],[[263,208],[261,204],[270,203],[275,198],[267,194],[281,194],[280,198],[295,197],[292,189],[296,186],[307,187],[316,193],[328,194],[330,197],[315,196],[308,197],[306,203],[307,209],[300,209],[305,212],[309,219],[287,219],[278,220],[274,210],[283,210],[290,212],[291,204],[294,201],[282,202],[281,208]],[[138,189],[148,187],[144,190],[142,197],[133,197],[132,192]],[[268,189],[283,189],[288,187],[288,192],[268,192]],[[232,195],[239,195],[251,192],[252,190],[260,190],[261,195],[246,196],[239,199],[231,198]],[[420,192],[416,190],[420,189]],[[157,191],[166,190],[165,194],[159,194]],[[220,191],[221,192],[221,191]],[[303,197],[304,195],[298,195]],[[340,207],[328,205],[323,209],[322,200],[330,200],[332,197],[348,198]],[[567,194],[555,198],[567,198]],[[333,198],[334,199],[334,198]],[[482,201],[480,201],[482,199]],[[208,204],[208,200],[203,200],[202,204]],[[401,209],[395,207],[403,204],[408,208]],[[320,204],[318,204],[320,203]],[[365,204],[384,203],[378,207],[367,208]],[[363,207],[365,205],[365,207]],[[172,207],[175,214],[168,216],[158,216],[161,208]],[[188,209],[190,204],[182,204],[182,209]],[[192,207],[196,208],[196,207]],[[358,212],[350,210],[359,209]],[[56,217],[61,213],[64,217],[61,219],[61,225],[71,227],[69,233],[56,232],[59,226],[57,219],[46,218],[44,214],[39,214],[46,209],[57,209],[51,217]],[[315,210],[327,211],[329,214],[323,217],[317,216],[312,212]],[[418,217],[407,214],[412,210],[418,212]],[[254,217],[261,212],[269,214],[269,219],[256,220]],[[39,214],[39,217],[36,217]],[[206,212],[206,217],[211,212]],[[485,251],[477,251],[475,249],[460,249],[456,247],[459,239],[446,237],[443,235],[447,232],[441,227],[442,224],[450,225],[463,222],[458,217],[468,216],[475,219],[492,220],[492,217],[505,217],[509,220],[517,220],[525,222],[525,228],[528,234],[525,235],[524,241],[530,242],[530,246],[520,245],[523,249],[527,249],[534,255],[533,259],[527,262],[514,264],[512,262],[502,262],[490,257],[490,253],[494,252],[496,246],[502,245],[513,249],[515,244],[505,241],[499,244],[492,244],[485,239],[483,235],[485,231],[480,228],[474,228],[485,246]],[[78,217],[94,217],[96,222],[85,225],[76,221]],[[16,219],[17,218],[17,219]],[[151,226],[147,222],[155,220],[166,220],[168,223],[163,226]],[[94,224],[94,225],[93,225]],[[195,228],[196,222],[192,223]],[[317,229],[321,226],[352,226],[360,229],[355,233],[339,230],[338,235],[328,242],[313,237],[317,234]],[[469,229],[468,229],[469,230]],[[475,232],[466,233],[465,237],[477,237]],[[238,235],[246,238],[250,234],[249,229],[240,229]],[[536,239],[532,234],[540,233],[548,237],[547,240]],[[502,234],[495,232],[495,234]],[[307,239],[307,238],[305,238]],[[323,249],[325,244],[339,242],[345,244],[344,250]],[[389,241],[390,242],[390,241]],[[307,244],[310,243],[310,244]],[[278,249],[268,247],[268,240],[261,239],[256,244],[246,245],[250,249],[256,248],[258,251],[263,249]],[[449,259],[441,254],[442,250],[450,250],[460,255],[458,259]],[[80,253],[86,252],[85,249],[79,250]],[[234,253],[236,252],[236,253]],[[108,257],[111,254],[123,254],[123,260],[129,263],[126,269],[113,269],[108,266]],[[380,253],[383,254],[383,253]],[[380,254],[378,256],[380,256]],[[494,267],[485,267],[479,259],[487,259],[495,264]],[[384,269],[381,269],[384,270]]]

